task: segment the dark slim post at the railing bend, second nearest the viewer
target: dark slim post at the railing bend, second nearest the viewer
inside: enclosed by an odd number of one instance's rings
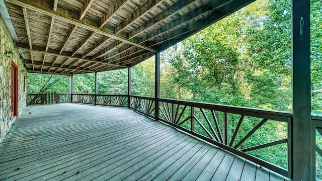
[[[159,98],[160,98],[160,53],[155,53],[155,81],[154,81],[154,119],[159,119]]]

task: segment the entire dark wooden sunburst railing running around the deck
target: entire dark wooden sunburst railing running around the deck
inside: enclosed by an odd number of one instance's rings
[[[102,106],[129,107],[150,118],[155,118],[155,98],[133,95],[93,95],[93,94],[55,94],[54,103],[83,103]],[[28,103],[41,104],[44,96],[28,95]],[[291,112],[268,111],[253,108],[217,104],[157,99],[159,104],[158,120],[182,131],[210,142],[227,151],[260,164],[270,170],[291,177],[292,173],[292,136]],[[49,103],[47,101],[47,103]],[[316,122],[316,136],[322,136],[322,116],[312,116]],[[270,125],[278,130],[271,130]],[[262,139],[261,133],[279,135],[254,144],[254,139]],[[322,144],[322,143],[319,143]],[[316,152],[322,156],[322,145],[316,142]],[[284,160],[267,160],[258,150],[280,152]],[[317,158],[316,158],[317,160]],[[273,163],[272,163],[273,162]],[[281,163],[282,162],[282,163]]]

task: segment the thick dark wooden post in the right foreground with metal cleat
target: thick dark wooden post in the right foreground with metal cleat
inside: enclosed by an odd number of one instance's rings
[[[315,122],[311,121],[310,1],[292,1],[293,174],[315,180]]]

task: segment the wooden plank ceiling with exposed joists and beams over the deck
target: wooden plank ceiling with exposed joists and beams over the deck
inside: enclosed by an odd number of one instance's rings
[[[131,67],[255,0],[5,0],[28,72]]]

